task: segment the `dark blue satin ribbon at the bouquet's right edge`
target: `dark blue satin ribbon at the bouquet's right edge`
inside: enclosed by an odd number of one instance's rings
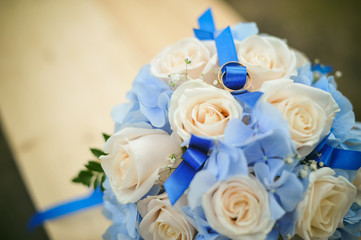
[[[328,136],[307,158],[323,162],[327,167],[331,168],[358,170],[361,167],[361,152],[334,148],[326,144]]]

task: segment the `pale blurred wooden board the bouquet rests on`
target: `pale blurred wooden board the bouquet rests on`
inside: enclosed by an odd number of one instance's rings
[[[38,209],[87,193],[70,179],[113,131],[111,108],[207,7],[217,27],[240,20],[220,1],[0,2],[1,121]],[[109,224],[94,208],[45,227],[51,239],[81,240]]]

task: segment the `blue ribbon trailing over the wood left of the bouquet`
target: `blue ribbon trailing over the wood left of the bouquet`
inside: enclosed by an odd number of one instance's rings
[[[75,199],[49,208],[43,212],[36,213],[32,216],[28,223],[28,230],[33,231],[36,227],[42,225],[47,220],[59,218],[102,203],[103,192],[100,187],[97,187],[89,196]]]

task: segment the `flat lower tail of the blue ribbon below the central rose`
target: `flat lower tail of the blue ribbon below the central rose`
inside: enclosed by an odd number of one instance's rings
[[[167,181],[165,181],[164,189],[172,205],[174,205],[184,191],[187,190],[195,174],[196,171],[186,161],[183,161]]]

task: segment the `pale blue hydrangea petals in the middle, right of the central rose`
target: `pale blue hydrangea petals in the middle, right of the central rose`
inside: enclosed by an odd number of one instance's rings
[[[232,119],[225,129],[224,141],[228,145],[241,147],[248,165],[289,158],[292,158],[289,162],[291,168],[298,163],[298,159],[294,158],[297,152],[287,122],[277,109],[269,103],[258,103],[247,118],[247,123],[244,119]]]

